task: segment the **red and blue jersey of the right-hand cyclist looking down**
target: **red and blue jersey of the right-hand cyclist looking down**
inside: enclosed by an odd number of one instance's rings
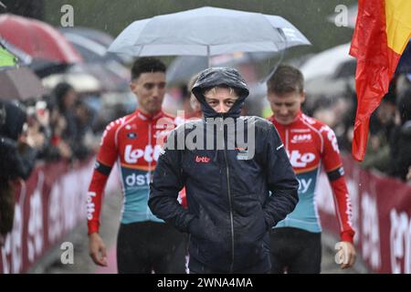
[[[301,112],[289,125],[280,124],[274,117],[270,117],[269,120],[279,131],[300,182],[299,203],[295,210],[276,227],[290,226],[310,232],[321,232],[315,203],[315,186],[322,164],[332,185],[342,241],[353,243],[352,206],[343,176],[337,138],[333,130],[321,121]]]

